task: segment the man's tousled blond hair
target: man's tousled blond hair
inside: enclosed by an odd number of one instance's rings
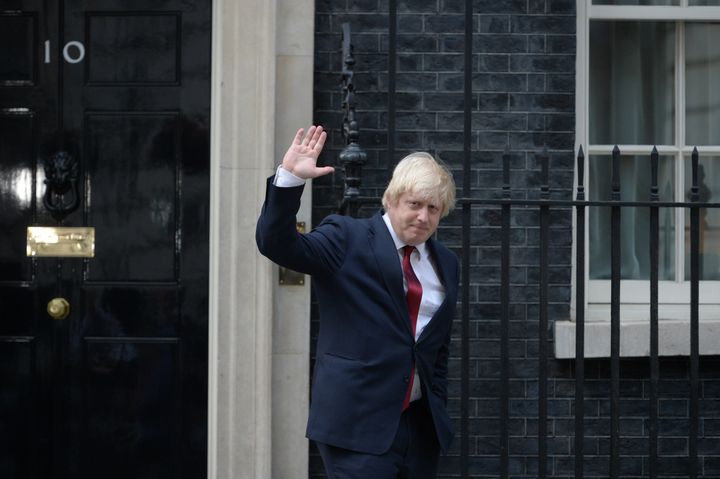
[[[455,208],[455,181],[444,163],[430,153],[410,153],[395,166],[383,193],[383,207],[397,204],[403,193],[412,193],[440,206],[441,217]]]

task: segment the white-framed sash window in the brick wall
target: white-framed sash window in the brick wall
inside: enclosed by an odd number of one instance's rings
[[[719,201],[720,0],[578,0],[577,8],[577,142],[586,151],[589,199],[610,198],[611,154],[617,144],[623,200],[649,199],[650,151],[657,146],[660,200],[687,201],[690,155],[697,146],[701,201]],[[661,209],[659,245],[660,319],[665,331],[676,322],[678,334],[688,341],[689,216],[683,208]],[[586,318],[607,323],[608,209],[589,208],[587,226]],[[649,318],[647,209],[623,208],[621,231],[621,316],[624,330],[630,331]],[[700,254],[700,317],[720,325],[717,209],[701,211]],[[661,324],[661,354],[662,329]],[[707,353],[702,345],[701,352]]]

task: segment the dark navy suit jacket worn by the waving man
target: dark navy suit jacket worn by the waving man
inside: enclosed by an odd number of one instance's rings
[[[457,257],[428,240],[445,301],[416,343],[402,266],[382,216],[331,215],[312,232],[299,234],[295,215],[303,186],[279,188],[270,178],[267,188],[258,248],[275,263],[312,275],[320,308],[307,436],[354,451],[386,452],[415,364],[438,443],[446,451],[453,436],[446,404]]]

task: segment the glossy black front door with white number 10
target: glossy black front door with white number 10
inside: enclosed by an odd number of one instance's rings
[[[206,475],[210,3],[0,5],[3,479]],[[30,258],[28,226],[95,256]]]

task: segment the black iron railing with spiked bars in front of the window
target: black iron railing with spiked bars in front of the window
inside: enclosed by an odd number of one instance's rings
[[[510,158],[508,154],[504,155],[503,160],[503,185],[502,197],[495,199],[479,199],[461,197],[458,204],[462,209],[462,295],[460,304],[460,322],[461,322],[461,345],[460,345],[460,364],[461,364],[461,394],[460,394],[460,461],[459,475],[460,477],[471,477],[470,461],[472,454],[470,452],[469,433],[469,399],[470,399],[470,270],[471,255],[470,251],[470,228],[471,210],[475,206],[494,207],[500,213],[500,297],[501,318],[500,318],[500,433],[498,436],[498,456],[499,470],[497,474],[501,478],[509,477],[509,404],[510,404],[510,380],[512,374],[510,371],[510,287],[511,287],[511,216],[513,211],[521,208],[536,208],[539,212],[539,294],[538,294],[538,428],[537,428],[537,461],[538,461],[538,477],[546,476],[547,459],[548,459],[548,431],[546,428],[548,420],[548,360],[549,353],[547,346],[548,341],[548,272],[550,269],[549,255],[550,242],[549,232],[552,227],[551,211],[555,209],[574,209],[576,215],[576,257],[575,257],[575,278],[573,280],[575,289],[576,308],[575,325],[576,325],[576,351],[575,351],[575,477],[584,477],[584,438],[585,429],[583,426],[585,420],[584,402],[585,402],[585,313],[581,305],[585,304],[585,237],[586,237],[586,211],[589,207],[603,207],[611,210],[611,339],[610,339],[610,391],[608,399],[610,401],[610,453],[609,453],[609,476],[611,478],[620,477],[620,459],[623,455],[621,449],[621,431],[620,431],[620,401],[622,399],[620,390],[620,304],[621,298],[621,271],[620,271],[620,245],[621,245],[621,215],[622,211],[627,208],[647,208],[650,212],[650,237],[648,238],[648,246],[651,257],[650,279],[648,288],[650,289],[650,356],[649,356],[649,394],[648,394],[648,471],[649,477],[654,478],[659,474],[658,471],[658,380],[659,380],[659,348],[658,348],[658,245],[659,245],[659,227],[658,214],[660,208],[686,208],[690,210],[690,285],[691,296],[690,304],[690,398],[689,398],[689,417],[688,417],[688,471],[687,477],[698,477],[698,424],[699,424],[699,397],[700,397],[700,381],[699,381],[699,248],[700,248],[700,210],[702,208],[720,208],[720,203],[709,203],[699,201],[698,187],[698,151],[695,149],[692,153],[692,186],[690,189],[689,202],[676,201],[660,201],[658,195],[658,152],[653,149],[650,154],[650,174],[651,174],[651,192],[650,201],[623,201],[620,199],[620,156],[621,152],[616,147],[612,154],[612,180],[611,180],[611,196],[607,201],[589,201],[585,198],[585,187],[583,183],[585,171],[585,156],[582,147],[577,155],[577,187],[575,199],[572,200],[556,200],[550,199],[549,174],[548,174],[548,155],[543,153],[540,155],[541,161],[541,178],[538,199],[513,199],[510,187]],[[379,198],[365,197],[360,195],[345,198],[345,204],[349,209],[357,211],[357,208],[350,206],[352,203],[379,203]]]

